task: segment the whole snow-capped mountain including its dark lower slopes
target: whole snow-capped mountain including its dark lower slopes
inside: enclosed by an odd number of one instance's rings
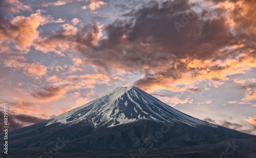
[[[8,141],[8,157],[256,157],[256,136],[186,115],[137,87],[10,131]]]

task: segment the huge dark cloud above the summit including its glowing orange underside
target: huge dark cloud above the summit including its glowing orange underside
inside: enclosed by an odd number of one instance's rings
[[[244,52],[244,37],[237,39],[232,33],[230,13],[217,14],[215,8],[204,15],[205,10],[200,12],[195,8],[197,5],[200,6],[188,1],[167,1],[161,5],[151,1],[123,15],[125,19],[117,19],[104,28],[95,26],[94,34],[89,31],[82,36],[83,29],[65,34],[66,27],[39,45],[43,49],[56,49],[60,47],[57,43],[67,43],[85,57],[85,63],[104,74],[120,68],[126,72],[140,71],[145,77],[134,85],[146,91],[157,88],[189,91],[204,80],[215,80],[213,86],[219,87],[229,75],[255,67],[255,57],[252,52]],[[192,14],[193,18],[178,32],[174,22],[182,22]],[[104,38],[102,29],[106,32]],[[178,84],[187,86],[178,88]]]

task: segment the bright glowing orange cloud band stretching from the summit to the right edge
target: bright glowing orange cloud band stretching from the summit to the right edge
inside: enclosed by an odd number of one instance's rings
[[[211,86],[218,88],[224,84],[221,81],[229,80],[229,75],[246,73],[251,68],[256,67],[256,58],[253,56],[241,53],[238,59],[227,58],[223,61],[214,61],[214,59],[180,59],[177,61],[177,65],[179,63],[186,65],[182,71],[176,65],[152,67],[150,70],[156,73],[155,75],[148,75],[146,78],[142,78],[134,84],[148,92],[152,92],[155,89],[183,92],[189,90],[190,87],[194,87],[199,82],[213,80],[214,83]],[[169,69],[174,69],[173,74],[169,74]],[[173,77],[173,75],[177,76]],[[245,81],[240,80],[237,82],[244,83]],[[185,87],[176,87],[177,85],[184,85]],[[254,95],[252,94],[248,96],[248,99],[253,98]]]

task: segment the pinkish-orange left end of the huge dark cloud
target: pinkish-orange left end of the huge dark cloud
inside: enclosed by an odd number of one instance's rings
[[[75,27],[72,21],[61,24],[58,32],[48,38],[37,41],[36,49],[42,52],[54,51],[62,55],[63,51],[86,54],[102,37],[102,27],[98,22]]]

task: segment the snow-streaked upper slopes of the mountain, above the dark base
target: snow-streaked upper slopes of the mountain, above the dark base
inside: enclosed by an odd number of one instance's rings
[[[84,106],[50,119],[47,126],[53,123],[73,124],[83,121],[95,128],[101,125],[111,127],[138,119],[217,127],[169,107],[137,87],[116,88]]]

